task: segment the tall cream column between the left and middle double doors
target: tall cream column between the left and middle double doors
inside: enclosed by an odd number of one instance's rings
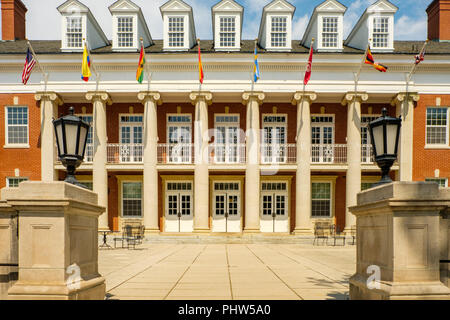
[[[209,172],[208,172],[208,105],[210,92],[192,92],[195,105],[194,123],[194,232],[209,232]]]

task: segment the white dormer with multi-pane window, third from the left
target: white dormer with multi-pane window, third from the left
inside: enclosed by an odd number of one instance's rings
[[[192,8],[182,0],[170,0],[160,8],[164,24],[164,50],[187,51],[197,42]]]

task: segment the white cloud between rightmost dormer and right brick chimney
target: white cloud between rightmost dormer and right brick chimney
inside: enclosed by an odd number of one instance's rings
[[[427,38],[427,17],[411,18],[401,16],[395,21],[395,39],[425,40]]]

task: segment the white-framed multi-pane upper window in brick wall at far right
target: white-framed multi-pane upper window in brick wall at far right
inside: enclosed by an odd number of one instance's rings
[[[448,109],[427,109],[427,144],[448,145]]]

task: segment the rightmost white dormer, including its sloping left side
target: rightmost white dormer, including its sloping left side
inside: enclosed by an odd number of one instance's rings
[[[365,50],[369,39],[373,52],[394,50],[394,15],[398,8],[387,0],[379,0],[364,11],[345,45]]]

